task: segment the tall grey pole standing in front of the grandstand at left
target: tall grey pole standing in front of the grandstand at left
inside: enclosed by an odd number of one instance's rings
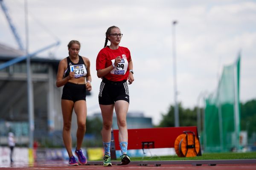
[[[29,113],[29,148],[33,147],[34,143],[34,95],[33,95],[33,84],[31,78],[31,67],[29,57],[29,27],[28,27],[28,4],[27,0],[24,1],[25,8],[25,28],[26,28],[26,68],[27,68],[27,94],[28,94],[28,113]]]

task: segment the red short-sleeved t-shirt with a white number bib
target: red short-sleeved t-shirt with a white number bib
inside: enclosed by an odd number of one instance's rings
[[[112,50],[109,47],[102,48],[96,59],[96,70],[104,69],[112,65],[112,61],[116,57],[121,57],[121,62],[116,68],[113,68],[110,73],[104,78],[117,82],[127,80],[129,76],[128,62],[131,60],[131,54],[128,48],[119,46],[118,49]]]

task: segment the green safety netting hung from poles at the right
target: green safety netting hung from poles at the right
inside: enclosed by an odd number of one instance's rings
[[[240,55],[235,63],[224,66],[217,90],[205,99],[203,141],[205,152],[239,149]]]

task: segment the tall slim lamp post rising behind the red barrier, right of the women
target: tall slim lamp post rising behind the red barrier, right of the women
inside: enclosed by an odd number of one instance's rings
[[[177,77],[176,77],[176,51],[175,51],[175,24],[177,24],[177,21],[174,20],[172,22],[172,54],[173,54],[173,84],[174,84],[174,102],[175,102],[175,108],[174,108],[174,116],[175,116],[175,127],[179,127],[179,107],[177,103]]]

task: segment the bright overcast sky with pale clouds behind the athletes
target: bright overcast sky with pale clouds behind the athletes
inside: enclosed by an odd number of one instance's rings
[[[177,57],[177,99],[194,108],[198,99],[217,88],[224,65],[235,62],[241,51],[240,100],[256,99],[255,0],[27,0],[29,52],[60,40],[40,57],[68,56],[70,40],[81,42],[80,55],[91,63],[92,96],[88,115],[100,111],[96,56],[105,32],[118,26],[121,46],[130,49],[134,83],[129,85],[129,111],[143,112],[157,125],[161,114],[174,105],[173,25]],[[4,0],[25,46],[24,0]],[[18,48],[0,10],[0,42]],[[204,95],[202,95],[204,94]],[[200,97],[199,97],[200,96]]]

